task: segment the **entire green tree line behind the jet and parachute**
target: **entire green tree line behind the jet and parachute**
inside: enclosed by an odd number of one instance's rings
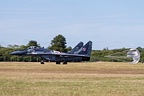
[[[57,35],[51,40],[51,45],[47,49],[57,50],[61,52],[68,52],[72,48],[66,46],[66,38],[63,35]],[[18,62],[40,62],[40,57],[34,56],[13,56],[10,55],[12,51],[25,50],[30,46],[40,46],[37,41],[31,40],[27,45],[8,45],[7,47],[0,46],[0,62],[18,61]],[[141,53],[141,62],[144,61],[144,48],[137,48]],[[109,50],[104,48],[103,50],[92,50],[91,62],[95,61],[108,61],[108,62],[130,62],[132,59],[126,58],[128,48],[120,48]]]

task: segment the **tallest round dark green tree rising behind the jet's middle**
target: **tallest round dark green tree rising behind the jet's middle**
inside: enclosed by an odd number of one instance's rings
[[[66,52],[67,49],[65,37],[62,35],[54,37],[54,39],[51,41],[51,46],[49,46],[48,49]]]

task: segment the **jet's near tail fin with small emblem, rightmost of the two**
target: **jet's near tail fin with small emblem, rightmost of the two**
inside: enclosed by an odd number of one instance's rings
[[[90,57],[92,51],[92,41],[88,41],[77,53]]]

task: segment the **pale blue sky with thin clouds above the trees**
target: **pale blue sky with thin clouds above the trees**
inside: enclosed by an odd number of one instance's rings
[[[91,40],[93,50],[144,48],[144,0],[1,0],[0,45],[67,46]]]

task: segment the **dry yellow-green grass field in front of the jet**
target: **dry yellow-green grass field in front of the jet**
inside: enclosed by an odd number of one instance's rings
[[[144,64],[1,62],[0,96],[144,96]]]

